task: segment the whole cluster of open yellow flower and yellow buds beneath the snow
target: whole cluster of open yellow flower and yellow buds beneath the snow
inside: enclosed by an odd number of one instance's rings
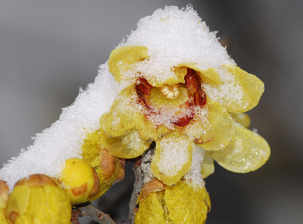
[[[72,205],[102,196],[124,178],[125,161],[144,155],[152,142],[150,179],[138,197],[135,223],[204,223],[211,204],[202,177],[214,172],[214,160],[238,173],[268,160],[267,142],[247,129],[245,112],[264,91],[256,76],[234,64],[205,69],[205,64],[183,61],[165,79],[158,78],[140,70],[152,61],[148,52],[145,46],[127,44],[112,51],[109,72],[125,88],[100,117],[100,130],[88,133],[82,159],[66,160],[58,178],[23,178],[10,195],[0,180],[0,223],[70,223]],[[226,94],[231,97],[218,97]],[[203,155],[198,165],[194,149]],[[193,168],[201,183],[186,179]]]

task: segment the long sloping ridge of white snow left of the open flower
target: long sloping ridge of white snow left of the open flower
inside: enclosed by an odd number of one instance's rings
[[[110,109],[120,91],[107,64],[100,65],[95,82],[80,90],[75,102],[62,109],[58,121],[36,134],[33,145],[5,164],[0,179],[12,190],[16,181],[31,174],[57,177],[66,159],[80,157],[83,139],[100,128],[99,118]]]

